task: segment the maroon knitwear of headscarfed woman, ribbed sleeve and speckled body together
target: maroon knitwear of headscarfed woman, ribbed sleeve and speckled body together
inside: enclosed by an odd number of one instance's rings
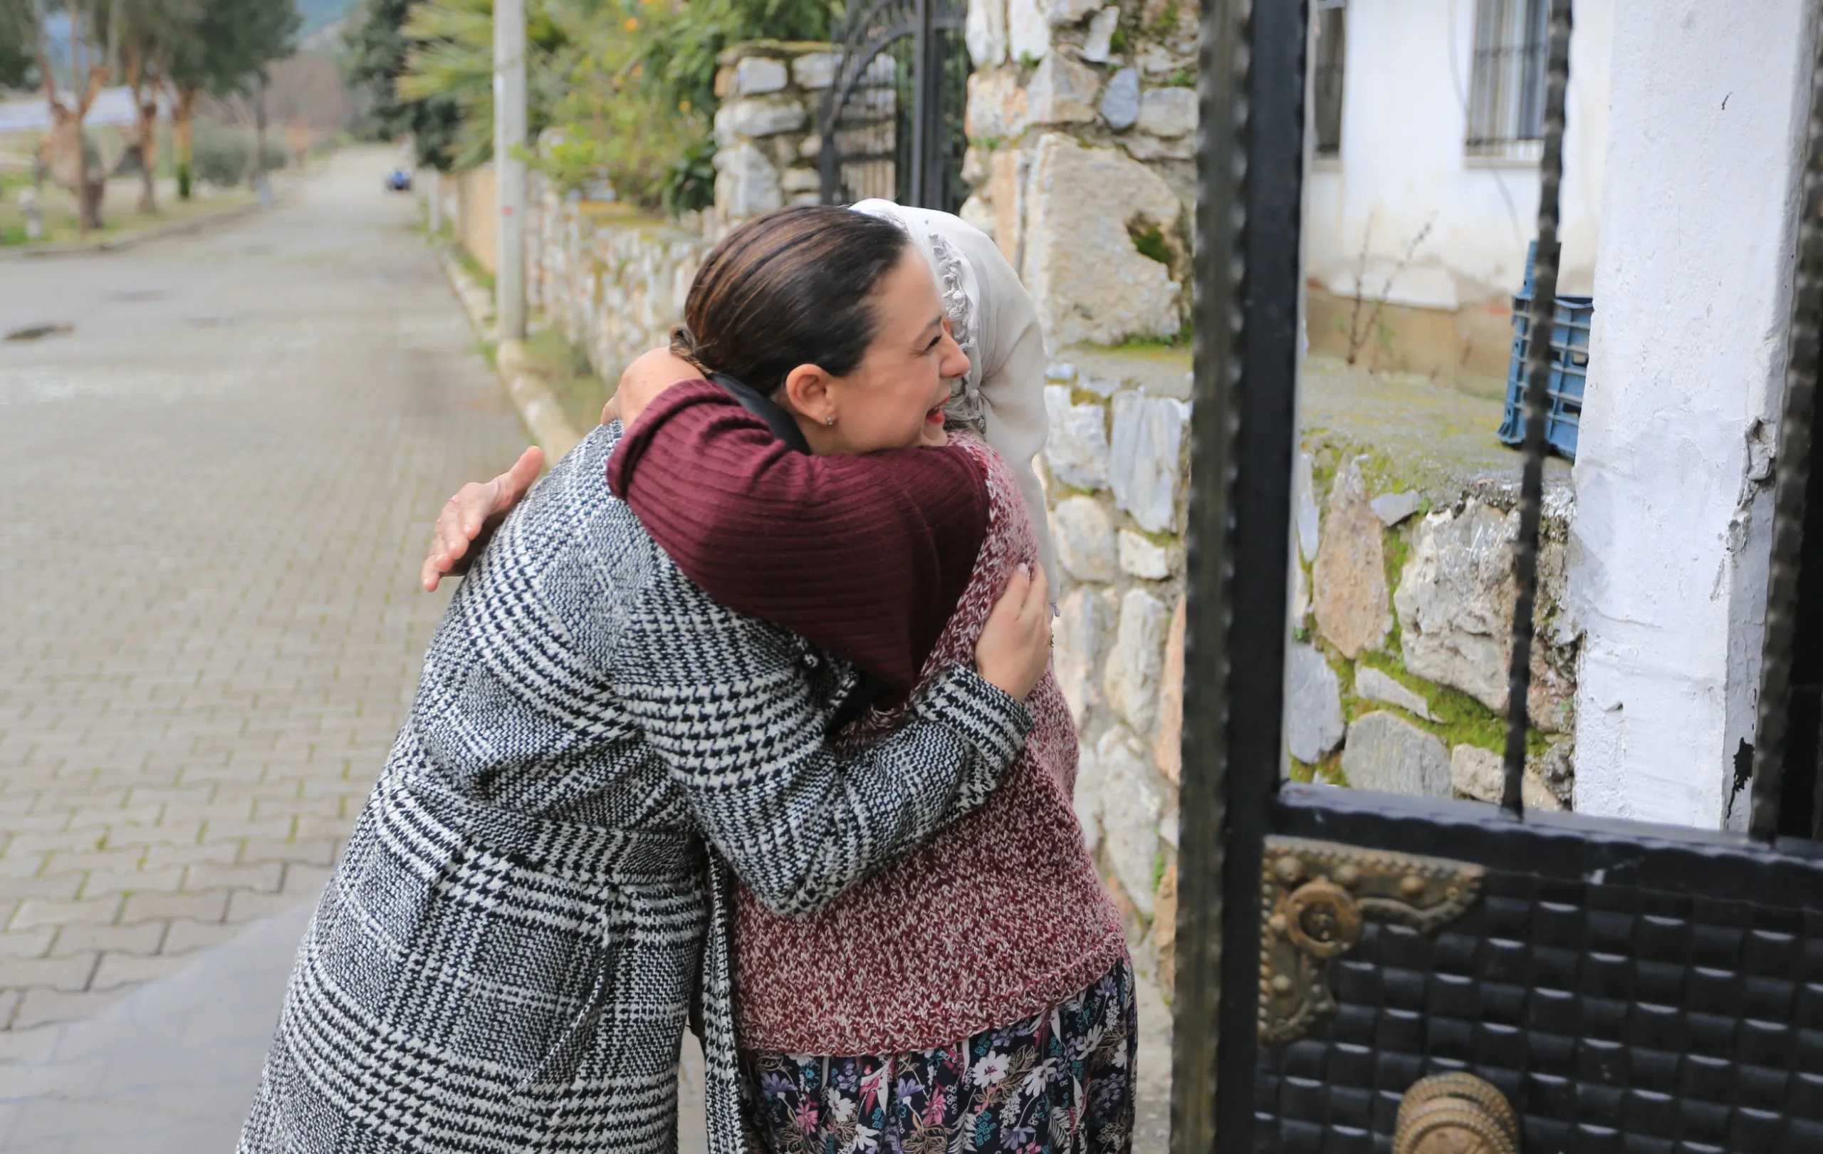
[[[890,684],[901,654],[913,684],[972,660],[1012,569],[1037,565],[1017,483],[972,438],[806,458],[720,388],[680,385],[622,441],[609,478],[711,596]],[[722,549],[733,552],[713,556]],[[957,571],[959,596],[950,592]],[[912,631],[932,614],[948,620],[919,640]],[[780,917],[740,893],[744,1048],[932,1048],[1046,1010],[1123,957],[1119,913],[1070,806],[1070,709],[1050,675],[1026,706],[1026,746],[975,813],[808,917]],[[879,740],[899,720],[897,706],[875,709],[839,744]]]

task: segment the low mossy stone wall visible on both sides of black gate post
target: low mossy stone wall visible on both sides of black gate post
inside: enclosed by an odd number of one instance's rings
[[[1187,386],[1107,363],[1052,365],[1045,394],[1041,469],[1063,567],[1056,673],[1081,740],[1077,817],[1136,966],[1169,994],[1190,407]],[[1291,778],[1499,800],[1515,505],[1509,483],[1413,485],[1369,445],[1305,438],[1287,574]],[[1529,808],[1568,808],[1575,784],[1570,512],[1559,483],[1540,556]]]

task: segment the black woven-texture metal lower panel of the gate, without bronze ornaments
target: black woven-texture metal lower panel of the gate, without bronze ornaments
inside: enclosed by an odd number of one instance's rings
[[[1449,1070],[1511,1101],[1524,1150],[1823,1150],[1823,860],[1808,851],[1309,786],[1289,786],[1271,824],[1486,877],[1435,933],[1367,921],[1329,963],[1334,1012],[1260,1045],[1254,1150],[1393,1150],[1406,1088]]]

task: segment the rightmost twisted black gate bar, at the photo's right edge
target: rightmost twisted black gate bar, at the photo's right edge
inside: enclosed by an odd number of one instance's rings
[[[1803,191],[1797,208],[1797,277],[1785,343],[1785,403],[1779,416],[1772,498],[1772,562],[1766,572],[1766,640],[1759,660],[1759,726],[1754,733],[1754,808],[1748,833],[1779,833],[1790,740],[1792,649],[1797,636],[1797,578],[1803,574],[1805,505],[1810,487],[1819,328],[1823,328],[1823,36],[1814,46],[1810,122],[1805,131]],[[1816,596],[1812,592],[1812,596]],[[1808,738],[1808,735],[1807,735]],[[1823,789],[1814,806],[1823,806]],[[1814,819],[1805,833],[1814,829]]]

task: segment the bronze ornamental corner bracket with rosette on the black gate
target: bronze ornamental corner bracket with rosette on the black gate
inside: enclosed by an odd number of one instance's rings
[[[1294,1041],[1318,1015],[1334,1014],[1329,959],[1360,941],[1364,919],[1431,933],[1475,904],[1486,873],[1438,857],[1265,839],[1260,1041]]]

